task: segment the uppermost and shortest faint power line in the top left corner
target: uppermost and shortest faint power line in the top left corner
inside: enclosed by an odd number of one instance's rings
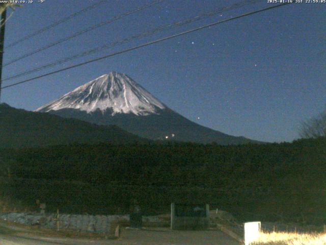
[[[96,8],[97,6],[99,6],[100,4],[102,4],[102,3],[104,3],[104,2],[107,2],[107,0],[101,0],[101,1],[98,2],[98,3],[95,3],[95,4],[93,4],[93,5],[89,6],[89,7],[86,7],[85,9],[82,9],[82,10],[80,10],[80,11],[78,11],[78,12],[75,12],[75,13],[69,15],[68,17],[65,17],[65,18],[63,18],[63,19],[60,19],[60,20],[58,20],[58,21],[56,21],[56,22],[50,24],[49,26],[46,26],[46,27],[44,27],[44,28],[42,28],[42,29],[40,29],[40,30],[37,30],[37,31],[35,31],[35,32],[31,33],[31,34],[29,34],[29,35],[26,35],[26,36],[24,36],[24,37],[22,37],[22,38],[20,38],[20,39],[18,39],[18,40],[16,40],[16,41],[10,43],[10,44],[7,45],[5,48],[13,47],[13,46],[17,45],[18,43],[21,43],[21,42],[23,42],[23,41],[26,41],[26,40],[32,38],[32,37],[35,37],[36,35],[39,35],[39,34],[45,32],[45,31],[48,31],[48,30],[50,30],[50,29],[52,29],[52,28],[58,26],[58,25],[61,24],[61,23],[64,23],[64,22],[66,22],[66,21],[68,21],[68,20],[70,20],[70,19],[72,19],[72,18],[74,18],[74,17],[76,17],[76,16],[78,16],[78,15],[80,15],[80,14],[83,14],[83,13],[89,11],[90,9],[94,9],[94,8]]]

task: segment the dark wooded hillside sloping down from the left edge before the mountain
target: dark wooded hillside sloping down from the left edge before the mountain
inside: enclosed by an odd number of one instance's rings
[[[117,126],[98,126],[48,113],[0,104],[0,148],[25,148],[71,143],[131,143],[147,141]]]

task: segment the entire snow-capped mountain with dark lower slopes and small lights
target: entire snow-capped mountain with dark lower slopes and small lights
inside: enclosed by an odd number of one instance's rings
[[[258,142],[215,131],[188,120],[125,74],[111,72],[36,110],[97,125],[117,125],[149,139],[200,143]]]

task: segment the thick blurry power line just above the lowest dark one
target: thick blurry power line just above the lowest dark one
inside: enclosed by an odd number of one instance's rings
[[[56,65],[59,65],[59,64],[62,64],[62,63],[65,63],[65,62],[80,58],[80,57],[85,57],[87,55],[95,54],[95,53],[97,53],[99,51],[102,51],[102,50],[105,50],[106,48],[109,48],[109,47],[114,47],[114,46],[117,46],[117,45],[120,45],[120,44],[123,44],[123,43],[127,43],[129,41],[133,41],[133,40],[138,39],[138,38],[148,37],[148,36],[156,34],[158,32],[165,31],[165,30],[168,30],[168,29],[172,29],[173,27],[180,27],[180,26],[183,26],[184,24],[193,23],[193,22],[201,20],[201,19],[203,19],[205,17],[211,17],[211,16],[214,16],[214,15],[222,13],[222,12],[237,9],[237,8],[240,8],[240,7],[243,7],[243,6],[246,6],[246,5],[255,4],[257,2],[260,2],[260,0],[251,0],[251,1],[247,0],[247,1],[243,1],[243,2],[240,2],[240,3],[233,4],[230,7],[219,8],[219,9],[216,9],[214,11],[210,11],[208,13],[206,12],[206,13],[203,13],[201,15],[198,15],[198,16],[195,16],[195,17],[192,17],[192,18],[188,18],[188,19],[185,19],[185,20],[182,20],[182,21],[176,21],[176,22],[174,22],[172,24],[161,26],[161,27],[155,28],[155,29],[153,29],[151,31],[147,31],[147,32],[144,32],[144,33],[141,33],[141,34],[133,35],[131,37],[127,37],[127,38],[125,38],[123,40],[120,40],[120,41],[115,41],[115,42],[112,42],[112,43],[108,43],[108,44],[105,44],[103,46],[93,48],[92,50],[82,52],[82,53],[79,53],[79,54],[74,55],[74,56],[66,57],[66,58],[57,60],[57,61],[52,62],[52,63],[48,63],[48,64],[45,64],[45,65],[42,65],[42,66],[35,67],[33,69],[30,69],[30,70],[23,71],[20,74],[16,74],[14,76],[7,77],[7,78],[3,79],[3,81],[8,81],[8,80],[12,80],[14,78],[22,77],[24,75],[32,74],[32,73],[34,73],[36,71],[40,71],[40,70],[43,70],[45,68],[56,66]]]

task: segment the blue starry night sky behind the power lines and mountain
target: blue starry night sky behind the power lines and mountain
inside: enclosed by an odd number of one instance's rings
[[[45,0],[17,8],[5,43],[99,1]],[[3,78],[105,43],[239,1],[166,0],[141,12],[4,67]],[[93,26],[150,0],[108,0],[86,14],[5,50],[4,62]],[[241,13],[266,1],[133,40],[16,80],[110,54]],[[34,110],[110,71],[125,73],[185,117],[231,135],[291,141],[300,122],[326,104],[326,3],[291,4],[3,90],[2,102]]]

